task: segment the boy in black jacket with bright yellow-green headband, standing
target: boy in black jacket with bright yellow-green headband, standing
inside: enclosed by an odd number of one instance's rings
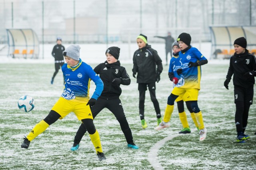
[[[151,48],[151,45],[147,44],[147,37],[140,34],[137,37],[137,44],[139,49],[134,52],[133,55],[133,77],[136,78],[138,90],[140,94],[139,99],[139,113],[142,128],[147,127],[147,123],[144,119],[144,102],[145,93],[148,90],[150,93],[151,101],[154,104],[157,117],[157,125],[161,123],[161,111],[158,100],[156,99],[156,81],[160,81],[160,74],[163,70],[162,60],[157,54],[157,51]]]

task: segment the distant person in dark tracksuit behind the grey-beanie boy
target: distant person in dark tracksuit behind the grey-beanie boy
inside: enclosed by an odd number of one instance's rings
[[[55,72],[53,73],[51,84],[53,84],[54,77],[56,76],[59,69],[61,69],[61,67],[64,64],[63,51],[65,51],[65,47],[61,43],[62,43],[62,39],[60,37],[58,37],[57,44],[54,45],[54,47],[52,49],[52,57],[54,57],[54,59],[55,59],[55,62],[54,62],[55,63]],[[64,83],[65,83],[65,80],[64,80]]]

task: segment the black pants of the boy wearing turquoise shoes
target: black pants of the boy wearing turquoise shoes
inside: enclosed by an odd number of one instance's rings
[[[127,143],[132,143],[133,142],[132,131],[126,120],[124,109],[121,104],[121,100],[119,98],[110,99],[110,100],[98,98],[98,100],[96,101],[96,104],[91,108],[92,117],[95,118],[98,115],[98,113],[100,113],[100,111],[102,111],[102,109],[104,108],[109,109],[115,115],[116,119],[120,123],[120,127],[124,133]],[[74,143],[79,144],[85,133],[86,133],[86,129],[84,125],[81,124],[78,131],[76,132]]]

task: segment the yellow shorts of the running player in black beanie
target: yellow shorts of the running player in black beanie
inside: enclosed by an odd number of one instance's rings
[[[194,101],[198,99],[199,89],[197,88],[182,88],[182,87],[174,87],[172,90],[172,94],[179,96],[175,101],[180,101],[181,99],[186,101]],[[181,98],[180,98],[181,97]],[[186,100],[185,100],[186,99]]]

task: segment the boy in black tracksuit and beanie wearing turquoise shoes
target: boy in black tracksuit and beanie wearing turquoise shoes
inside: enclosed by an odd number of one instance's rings
[[[126,120],[122,103],[119,99],[122,90],[120,84],[129,85],[131,83],[130,77],[123,66],[120,66],[119,58],[120,48],[109,47],[106,50],[107,61],[99,64],[94,68],[96,74],[100,74],[100,78],[104,83],[102,94],[91,107],[92,117],[95,118],[102,109],[109,109],[120,123],[120,127],[124,133],[128,147],[138,149],[139,147],[134,144],[132,138],[132,131]],[[79,143],[86,133],[84,125],[80,125],[74,139],[74,145],[71,150],[78,150]]]

